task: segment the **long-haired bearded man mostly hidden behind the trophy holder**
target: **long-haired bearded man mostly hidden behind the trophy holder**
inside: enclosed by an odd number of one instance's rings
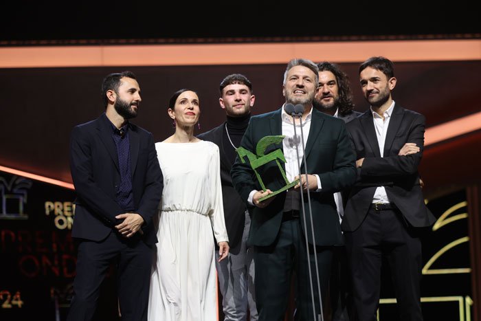
[[[354,111],[353,93],[346,73],[337,64],[328,61],[318,63],[317,68],[319,68],[319,87],[313,100],[314,108],[340,118],[346,123],[361,115],[358,111]],[[344,195],[345,198],[346,195]],[[344,216],[342,193],[335,192],[334,200],[340,223]],[[335,248],[329,295],[333,321],[355,320],[350,272],[344,246]]]

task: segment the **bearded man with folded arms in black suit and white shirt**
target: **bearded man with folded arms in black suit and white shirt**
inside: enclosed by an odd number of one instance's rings
[[[358,179],[350,191],[342,228],[360,321],[379,307],[381,258],[390,265],[400,320],[423,320],[421,241],[435,218],[424,203],[418,165],[425,118],[392,100],[394,66],[371,57],[359,67],[370,109],[347,124],[357,154]]]

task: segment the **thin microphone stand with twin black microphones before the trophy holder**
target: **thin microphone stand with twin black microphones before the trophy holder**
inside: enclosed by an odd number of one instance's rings
[[[290,105],[290,106],[289,106]],[[293,108],[292,108],[292,107]],[[290,107],[290,108],[289,108]],[[293,104],[287,104],[286,105],[286,111],[290,112],[292,118],[293,118],[293,126],[294,126],[294,137],[297,137],[296,129],[295,129],[295,118],[299,118],[300,122],[300,132],[301,132],[301,146],[302,146],[302,157],[304,160],[304,171],[306,173],[306,185],[307,185],[307,202],[309,205],[309,217],[311,219],[311,232],[312,232],[312,237],[313,237],[313,250],[314,250],[314,262],[315,262],[315,274],[317,276],[317,293],[319,294],[319,307],[321,309],[320,314],[317,316],[318,321],[324,321],[324,313],[322,309],[322,295],[321,295],[321,287],[320,287],[320,278],[319,278],[319,268],[317,265],[317,253],[315,252],[315,236],[314,236],[314,225],[313,225],[313,212],[311,208],[311,194],[309,193],[309,179],[307,178],[307,162],[306,162],[306,150],[304,148],[304,132],[302,131],[302,114],[304,113],[304,106],[302,104],[296,104],[295,107]],[[289,109],[293,109],[290,111]],[[295,142],[295,140],[294,140]],[[297,160],[298,160],[298,168],[299,168],[299,183],[301,183],[300,175],[301,175],[301,166],[299,162],[299,148],[298,145],[295,144],[295,153],[297,154]],[[304,206],[304,193],[302,192],[302,185],[300,185],[300,196],[301,196],[301,205],[302,205],[302,220],[304,221],[304,226],[306,225],[306,208]],[[313,305],[313,316],[315,318],[315,302],[314,302],[314,290],[313,290],[313,278],[312,278],[312,272],[311,272],[311,262],[310,262],[310,254],[309,254],[309,240],[307,239],[307,233],[304,233],[304,236],[306,238],[306,251],[307,251],[307,261],[309,262],[309,283],[311,286],[311,298],[312,298],[312,305]],[[315,321],[315,319],[314,319]]]

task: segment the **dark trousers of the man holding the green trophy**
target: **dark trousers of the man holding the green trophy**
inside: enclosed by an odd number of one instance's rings
[[[259,321],[284,320],[293,272],[295,272],[297,284],[295,320],[317,320],[321,309],[314,251],[317,254],[317,273],[320,277],[321,296],[324,297],[331,274],[333,248],[310,246],[308,257],[306,239],[299,219],[283,222],[278,238],[273,245],[254,247],[256,305]],[[312,282],[309,277],[309,266],[311,267]],[[316,317],[313,309],[315,309]]]

